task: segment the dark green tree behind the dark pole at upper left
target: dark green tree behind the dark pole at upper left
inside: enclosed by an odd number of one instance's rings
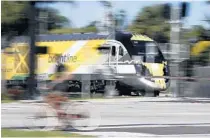
[[[69,23],[66,17],[60,15],[53,8],[36,7],[37,16],[40,12],[47,15],[44,21],[43,19],[39,20],[39,22],[47,24],[47,30],[61,28]],[[29,14],[29,2],[2,1],[2,34],[7,36],[27,35],[29,30]]]

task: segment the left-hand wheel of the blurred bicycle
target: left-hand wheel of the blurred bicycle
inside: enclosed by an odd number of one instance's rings
[[[54,109],[48,105],[32,105],[24,125],[33,130],[54,130],[59,122]]]

